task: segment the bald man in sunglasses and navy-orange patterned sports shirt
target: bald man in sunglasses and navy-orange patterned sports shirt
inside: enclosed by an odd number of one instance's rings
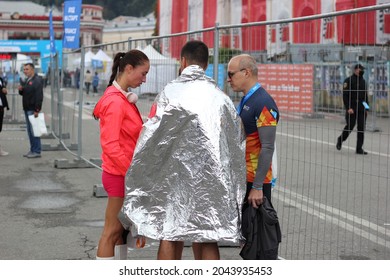
[[[246,133],[247,190],[245,205],[258,208],[263,197],[271,201],[272,156],[275,150],[279,110],[261,86],[256,60],[247,54],[233,57],[228,64],[227,82],[244,94],[237,111]]]

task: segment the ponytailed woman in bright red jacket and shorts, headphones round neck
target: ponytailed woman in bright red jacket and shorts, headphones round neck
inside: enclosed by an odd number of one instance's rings
[[[110,82],[93,111],[100,121],[102,183],[108,194],[96,259],[126,258],[127,246],[122,245],[123,226],[118,213],[123,205],[125,175],[143,124],[135,104],[137,96],[127,90],[145,83],[149,68],[148,57],[139,50],[116,54]]]

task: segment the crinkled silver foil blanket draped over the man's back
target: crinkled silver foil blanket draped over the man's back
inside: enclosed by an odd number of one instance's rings
[[[155,105],[126,175],[121,222],[155,240],[238,244],[245,136],[233,102],[189,66]]]

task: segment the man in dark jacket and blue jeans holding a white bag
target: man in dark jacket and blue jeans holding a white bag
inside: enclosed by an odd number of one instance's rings
[[[26,63],[23,67],[26,80],[21,81],[18,87],[19,94],[23,96],[23,110],[26,118],[27,134],[30,140],[30,150],[23,155],[27,158],[41,157],[41,138],[35,137],[28,116],[38,117],[43,102],[43,81],[34,70],[34,64]]]

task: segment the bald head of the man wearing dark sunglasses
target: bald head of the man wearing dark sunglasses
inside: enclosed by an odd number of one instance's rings
[[[227,82],[236,92],[247,93],[257,82],[256,60],[248,54],[233,57],[228,64]]]

